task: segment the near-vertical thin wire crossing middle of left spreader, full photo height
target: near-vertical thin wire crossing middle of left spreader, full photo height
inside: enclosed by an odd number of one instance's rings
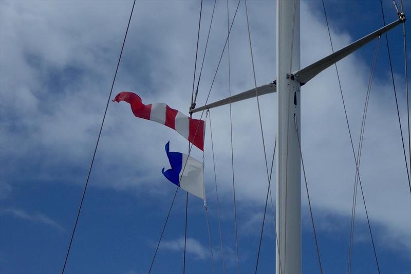
[[[227,0],[227,31],[229,29],[229,5]],[[228,44],[228,87],[229,87],[229,105],[230,105],[230,142],[231,142],[231,171],[233,176],[233,202],[234,202],[234,232],[235,232],[235,251],[237,259],[237,273],[240,273],[240,263],[238,260],[238,231],[237,231],[237,207],[235,203],[235,179],[234,179],[234,152],[233,152],[233,117],[231,112],[231,71],[230,71],[230,37],[227,40]]]

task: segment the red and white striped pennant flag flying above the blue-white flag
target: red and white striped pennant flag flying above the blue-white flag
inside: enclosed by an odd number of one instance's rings
[[[193,143],[197,148],[204,151],[206,124],[203,120],[185,116],[164,103],[145,105],[137,94],[131,92],[121,92],[113,101],[125,101],[129,103],[134,116],[169,126]]]

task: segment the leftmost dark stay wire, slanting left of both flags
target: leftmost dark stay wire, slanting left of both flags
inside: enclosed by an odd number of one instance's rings
[[[117,67],[116,67],[116,72],[115,72],[115,74],[114,74],[113,82],[111,83],[110,93],[109,93],[109,95],[108,95],[108,99],[107,99],[106,108],[105,108],[105,111],[104,111],[103,120],[102,120],[102,122],[101,122],[100,131],[99,131],[99,136],[98,136],[98,138],[97,138],[96,147],[95,147],[95,149],[94,149],[93,157],[91,158],[90,168],[88,169],[87,179],[86,179],[86,183],[85,183],[84,189],[83,189],[83,194],[82,194],[82,197],[81,197],[81,200],[80,200],[79,210],[77,211],[76,221],[74,222],[74,227],[73,227],[73,230],[72,230],[72,232],[71,232],[70,243],[68,244],[67,253],[66,253],[66,258],[65,258],[64,264],[63,264],[62,274],[64,273],[64,270],[65,270],[65,268],[66,268],[66,264],[67,264],[67,260],[68,260],[68,255],[70,254],[70,248],[71,248],[71,244],[72,244],[73,238],[74,238],[74,232],[76,232],[77,223],[78,223],[78,221],[79,221],[79,216],[80,216],[80,212],[81,212],[81,207],[82,207],[82,205],[83,205],[84,196],[85,196],[85,194],[86,194],[86,190],[87,190],[87,186],[88,186],[88,180],[89,180],[89,178],[90,178],[91,169],[92,169],[92,167],[93,167],[94,159],[95,159],[95,157],[96,157],[97,147],[98,147],[98,145],[99,145],[100,136],[101,136],[101,132],[102,132],[102,130],[103,130],[103,125],[104,125],[104,120],[105,120],[106,114],[107,114],[108,103],[110,102],[111,94],[113,93],[113,87],[114,87],[114,83],[115,83],[115,81],[116,81],[117,71],[118,71],[119,66],[120,66],[120,60],[121,60],[121,56],[122,56],[122,54],[123,54],[124,44],[125,44],[125,40],[126,40],[126,38],[127,38],[128,28],[129,28],[130,22],[131,22],[131,20],[132,20],[132,16],[133,16],[133,11],[134,11],[134,6],[135,6],[135,5],[136,5],[136,0],[134,0],[134,2],[133,2],[132,11],[130,12],[130,17],[129,17],[129,19],[128,19],[127,29],[126,29],[125,34],[124,34],[123,45],[121,46],[120,56],[119,56],[119,60],[118,60],[118,62],[117,62]]]

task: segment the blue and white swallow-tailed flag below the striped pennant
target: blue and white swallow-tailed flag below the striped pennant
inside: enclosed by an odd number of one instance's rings
[[[173,184],[206,201],[204,167],[202,162],[180,152],[170,152],[170,141],[165,144],[165,153],[171,169],[161,171]],[[185,163],[186,162],[186,163]],[[184,168],[185,165],[185,168]]]

